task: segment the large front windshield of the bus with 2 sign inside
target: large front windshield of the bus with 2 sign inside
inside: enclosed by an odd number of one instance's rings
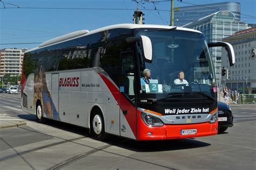
[[[212,58],[201,33],[181,30],[138,29],[136,36],[149,37],[152,61],[144,60],[138,46],[140,98],[186,94],[214,98],[216,85]],[[150,74],[147,74],[150,72]],[[150,76],[149,76],[150,75]]]

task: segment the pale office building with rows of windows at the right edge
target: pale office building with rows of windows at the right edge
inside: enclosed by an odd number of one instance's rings
[[[242,94],[256,94],[256,27],[235,32],[223,41],[234,48],[235,64],[230,67],[228,60],[222,60],[222,65],[228,69],[226,86]],[[222,51],[223,56],[227,53]]]

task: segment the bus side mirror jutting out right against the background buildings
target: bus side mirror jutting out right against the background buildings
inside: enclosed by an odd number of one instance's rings
[[[227,42],[208,42],[208,47],[225,47],[228,55],[228,60],[230,61],[230,66],[235,63],[234,49],[231,44]]]

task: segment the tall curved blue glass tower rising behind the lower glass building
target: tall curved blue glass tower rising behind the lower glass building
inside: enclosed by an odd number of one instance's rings
[[[218,11],[231,11],[234,13],[234,19],[240,20],[240,3],[223,2],[180,7],[179,10],[174,13],[174,25],[182,26]]]

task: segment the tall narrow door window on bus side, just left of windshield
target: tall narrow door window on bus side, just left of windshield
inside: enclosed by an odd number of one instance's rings
[[[134,98],[134,63],[132,52],[121,53],[121,87],[124,93],[130,98]]]

